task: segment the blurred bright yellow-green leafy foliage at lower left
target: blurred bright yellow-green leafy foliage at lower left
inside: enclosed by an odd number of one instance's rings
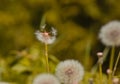
[[[31,84],[34,76],[46,72],[43,49],[43,46],[33,45],[29,50],[14,51],[7,58],[1,58],[1,81]],[[55,56],[49,56],[51,73],[54,72],[58,62]]]

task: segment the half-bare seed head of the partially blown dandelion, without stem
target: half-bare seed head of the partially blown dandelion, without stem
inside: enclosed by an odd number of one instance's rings
[[[56,30],[52,28],[51,32],[36,31],[35,35],[39,41],[46,43],[46,44],[52,44],[56,39]]]

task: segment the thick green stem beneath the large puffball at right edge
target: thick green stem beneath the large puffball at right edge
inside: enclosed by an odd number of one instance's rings
[[[110,71],[112,71],[112,69],[113,69],[114,53],[115,53],[115,47],[113,46],[112,50],[111,50],[110,64],[109,64]],[[109,74],[108,84],[112,84],[112,74],[111,73]]]

